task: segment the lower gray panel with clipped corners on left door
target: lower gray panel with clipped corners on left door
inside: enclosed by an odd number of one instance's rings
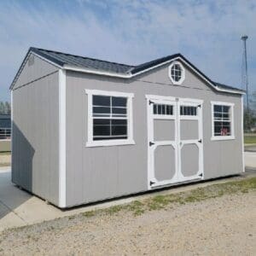
[[[154,149],[154,175],[157,181],[171,180],[175,175],[175,149],[171,145]]]

